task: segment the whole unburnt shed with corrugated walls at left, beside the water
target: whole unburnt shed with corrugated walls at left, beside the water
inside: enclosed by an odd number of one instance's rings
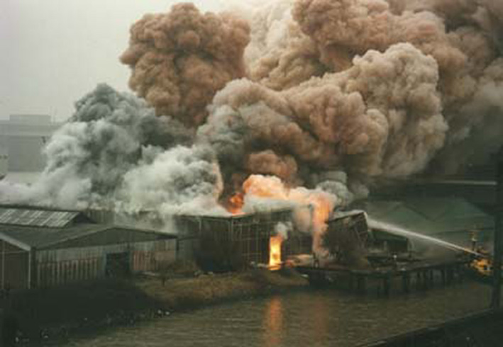
[[[157,271],[176,237],[96,224],[78,211],[0,207],[0,287],[35,288]]]

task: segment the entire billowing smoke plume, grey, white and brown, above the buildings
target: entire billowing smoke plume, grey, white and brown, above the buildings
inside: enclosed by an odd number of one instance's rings
[[[121,62],[145,101],[99,86],[48,144],[41,180],[0,183],[0,200],[330,212],[369,183],[458,172],[503,144],[502,1],[254,3],[140,19]]]

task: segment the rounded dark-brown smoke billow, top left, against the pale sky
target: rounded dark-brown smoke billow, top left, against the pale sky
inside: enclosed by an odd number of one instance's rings
[[[185,125],[204,122],[206,106],[228,81],[244,76],[248,23],[231,14],[200,13],[177,4],[148,14],[131,28],[121,62],[132,69],[131,89]]]

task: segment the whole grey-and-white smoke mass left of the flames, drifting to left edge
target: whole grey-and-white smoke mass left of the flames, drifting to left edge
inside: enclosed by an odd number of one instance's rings
[[[216,208],[221,176],[214,154],[193,146],[192,131],[177,120],[156,117],[144,101],[103,84],[75,106],[45,148],[40,180],[0,182],[2,203],[162,215]]]

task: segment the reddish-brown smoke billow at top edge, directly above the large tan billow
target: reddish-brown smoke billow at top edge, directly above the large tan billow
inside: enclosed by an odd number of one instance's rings
[[[382,52],[398,42],[436,59],[444,89],[452,88],[465,64],[463,52],[449,44],[443,21],[430,11],[394,14],[384,0],[299,0],[293,15],[319,46],[322,61],[336,71],[348,68],[355,55]]]

